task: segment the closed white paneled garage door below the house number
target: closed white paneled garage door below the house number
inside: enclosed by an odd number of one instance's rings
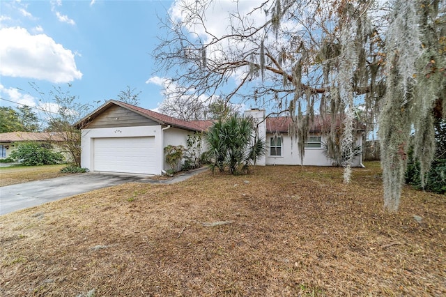
[[[95,172],[160,174],[155,137],[95,138],[93,142]]]

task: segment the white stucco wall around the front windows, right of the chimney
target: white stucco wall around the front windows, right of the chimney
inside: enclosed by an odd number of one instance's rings
[[[282,136],[282,155],[271,156],[270,155],[270,137],[274,137],[274,134],[268,133],[266,135],[266,165],[301,165],[300,154],[298,149],[298,143],[296,139],[287,134],[281,134]],[[321,141],[325,142],[325,137],[321,137]],[[357,135],[357,145],[362,145],[362,137],[360,133]],[[307,166],[332,166],[334,161],[325,157],[323,148],[305,148],[305,157],[302,165]],[[353,160],[353,167],[362,166],[362,155]]]

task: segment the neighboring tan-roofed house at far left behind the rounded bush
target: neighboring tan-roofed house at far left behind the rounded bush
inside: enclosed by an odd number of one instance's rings
[[[51,145],[54,151],[59,151],[57,142],[63,139],[57,137],[53,132],[8,132],[0,133],[0,159],[8,158],[17,146],[26,142],[40,142]]]

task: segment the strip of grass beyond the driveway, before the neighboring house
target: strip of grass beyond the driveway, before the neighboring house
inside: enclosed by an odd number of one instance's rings
[[[0,167],[0,187],[14,185],[16,183],[26,183],[27,181],[38,181],[45,178],[64,176],[60,170],[66,167],[62,165],[43,166],[22,166]]]

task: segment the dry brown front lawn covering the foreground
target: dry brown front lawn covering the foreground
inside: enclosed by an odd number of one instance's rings
[[[446,199],[378,163],[128,183],[0,217],[3,296],[446,296]],[[419,216],[414,218],[414,215]]]

